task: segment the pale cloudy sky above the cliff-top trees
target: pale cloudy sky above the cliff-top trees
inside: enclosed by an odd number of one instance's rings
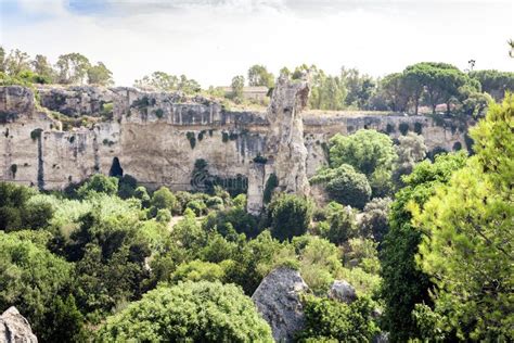
[[[509,0],[0,0],[0,45],[80,52],[118,86],[163,71],[226,86],[264,64],[374,77],[422,61],[514,72]]]

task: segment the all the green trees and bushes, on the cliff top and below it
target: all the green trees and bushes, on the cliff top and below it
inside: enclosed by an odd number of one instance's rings
[[[2,52],[2,85],[108,84],[103,64],[78,54],[55,67],[35,61]],[[503,98],[513,76],[441,63],[382,80],[305,65],[281,73],[307,71],[314,109],[437,114],[444,104],[447,115],[479,118],[473,154],[427,151],[409,127],[395,141],[375,130],[336,135],[329,165],[310,180],[324,201],[280,193],[272,175],[259,217],[216,182],[194,192],[147,190],[129,175],[97,174],[63,192],[2,182],[0,312],[16,306],[41,342],[270,341],[248,297],[287,266],[310,288],[298,341],[361,342],[381,331],[391,342],[513,341],[514,97],[497,104],[481,92]],[[248,79],[273,87],[260,65]],[[140,82],[200,88],[164,73]],[[236,96],[244,82],[234,77]],[[198,160],[195,173],[206,168]],[[356,302],[326,297],[336,279],[356,288]]]

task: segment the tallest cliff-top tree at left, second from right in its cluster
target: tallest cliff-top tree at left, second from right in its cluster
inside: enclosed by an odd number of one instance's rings
[[[78,52],[60,55],[56,63],[59,82],[83,84],[90,66],[89,60]]]

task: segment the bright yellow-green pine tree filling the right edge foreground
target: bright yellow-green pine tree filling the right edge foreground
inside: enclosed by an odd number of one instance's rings
[[[436,314],[463,341],[512,341],[514,333],[514,98],[493,104],[471,130],[476,155],[422,208],[419,263],[436,284]],[[448,332],[447,332],[448,334]]]

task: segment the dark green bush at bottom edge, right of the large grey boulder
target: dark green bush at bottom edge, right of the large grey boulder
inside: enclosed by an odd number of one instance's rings
[[[371,342],[380,329],[372,317],[375,304],[359,297],[350,305],[312,295],[304,297],[305,329],[299,342]]]

